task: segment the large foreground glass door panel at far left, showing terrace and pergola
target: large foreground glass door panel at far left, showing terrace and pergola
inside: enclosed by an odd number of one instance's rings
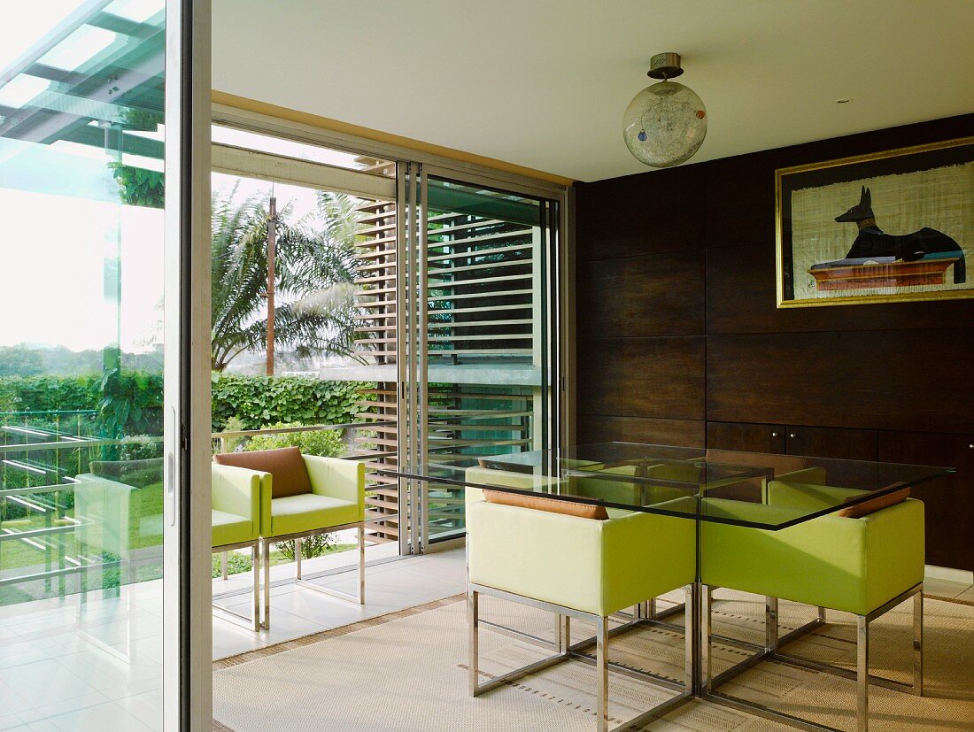
[[[2,729],[190,718],[190,191],[166,183],[194,8],[167,5],[18,3],[0,30]]]

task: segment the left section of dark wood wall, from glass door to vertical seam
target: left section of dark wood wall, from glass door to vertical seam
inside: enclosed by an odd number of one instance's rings
[[[700,165],[579,187],[580,441],[704,443],[702,194]]]

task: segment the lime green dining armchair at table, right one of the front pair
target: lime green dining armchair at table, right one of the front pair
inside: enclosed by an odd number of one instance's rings
[[[859,491],[769,481],[766,503],[705,498],[711,516],[760,520],[806,515],[828,508],[837,498]],[[765,652],[819,671],[855,677],[859,732],[869,725],[869,684],[911,688],[922,693],[923,504],[907,498],[860,518],[825,515],[779,531],[761,531],[704,522],[700,528],[700,577],[703,585],[703,687],[710,687],[710,604],[713,587],[727,587],[766,597]],[[914,599],[914,682],[906,684],[869,675],[869,624],[887,610]],[[778,599],[818,605],[818,620],[778,637]],[[857,616],[855,674],[781,653],[779,647],[825,622],[824,608]]]

